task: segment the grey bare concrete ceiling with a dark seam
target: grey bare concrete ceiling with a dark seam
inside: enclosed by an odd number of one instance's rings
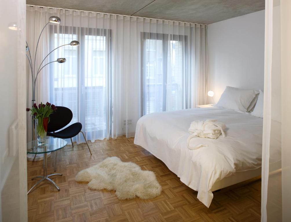
[[[26,3],[200,24],[265,9],[265,0],[26,0]]]

